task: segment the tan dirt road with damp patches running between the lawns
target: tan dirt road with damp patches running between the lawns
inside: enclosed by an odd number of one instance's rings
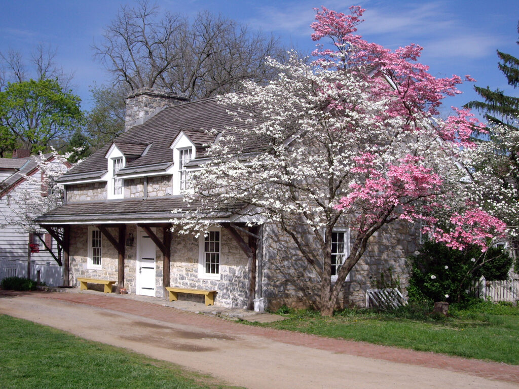
[[[66,300],[65,297],[63,299]],[[336,350],[315,348],[311,344],[290,344],[295,342],[280,339],[280,336],[291,337],[287,332],[272,330],[266,334],[277,336],[261,336],[257,335],[255,327],[235,323],[220,325],[221,319],[214,318],[208,321],[206,317],[192,313],[173,314],[173,311],[177,311],[173,308],[158,306],[172,312],[170,316],[177,319],[158,320],[154,318],[156,315],[146,313],[155,309],[147,305],[143,305],[139,314],[103,307],[104,302],[112,303],[117,300],[112,297],[98,298],[101,301],[98,307],[93,303],[78,304],[63,299],[42,298],[37,295],[0,295],[0,313],[59,328],[86,339],[123,347],[153,358],[168,360],[249,389],[483,389],[517,388],[519,383],[519,370],[515,366],[494,364],[502,366],[503,369],[503,374],[496,373],[495,378],[514,381],[503,382],[477,377],[476,373],[460,373],[449,371],[452,369],[349,355]],[[122,307],[124,301],[119,299],[119,302],[115,303]],[[139,307],[136,306],[136,309]],[[200,325],[197,325],[198,317]],[[251,330],[248,330],[249,328]],[[341,341],[336,342],[338,344]],[[478,361],[474,363],[485,364]],[[489,374],[486,377],[489,377]]]

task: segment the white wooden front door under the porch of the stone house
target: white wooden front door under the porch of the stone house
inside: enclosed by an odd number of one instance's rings
[[[137,245],[137,294],[155,297],[155,243],[139,228]]]

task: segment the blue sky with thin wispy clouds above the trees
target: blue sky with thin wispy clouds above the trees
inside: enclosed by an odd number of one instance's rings
[[[73,90],[91,105],[89,86],[103,84],[107,75],[93,58],[91,45],[102,38],[105,27],[117,15],[121,5],[134,4],[114,0],[2,0],[0,13],[0,51],[9,49],[29,55],[35,44],[57,47],[57,62],[74,74]],[[250,29],[273,32],[284,43],[310,52],[310,23],[321,5],[347,12],[350,5],[366,9],[359,34],[367,40],[395,49],[409,43],[424,47],[421,61],[438,77],[466,74],[475,85],[500,88],[512,95],[497,68],[496,49],[519,57],[517,0],[438,0],[376,1],[361,3],[329,0],[162,0],[162,10],[196,15],[209,10],[249,25]],[[464,92],[445,101],[447,106],[461,106],[477,98],[471,83]]]

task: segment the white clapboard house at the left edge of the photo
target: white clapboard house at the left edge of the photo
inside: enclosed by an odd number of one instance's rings
[[[53,157],[46,155],[48,161]],[[29,183],[25,176],[41,180],[41,172],[29,150],[15,149],[12,158],[0,158],[0,280],[8,276],[26,277],[57,286],[63,283],[56,241],[44,229],[29,233],[19,223],[16,201],[29,189],[34,196],[46,196],[42,185]],[[46,250],[46,247],[49,250]]]

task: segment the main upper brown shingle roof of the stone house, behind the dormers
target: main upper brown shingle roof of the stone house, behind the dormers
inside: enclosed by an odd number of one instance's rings
[[[206,134],[206,130],[222,131],[230,124],[248,127],[248,124],[233,122],[231,116],[227,113],[227,110],[232,109],[232,107],[218,104],[216,98],[175,105],[163,109],[145,123],[122,133],[114,142],[116,145],[151,144],[146,155],[127,163],[125,168],[173,162],[173,152],[169,147],[180,131],[184,131],[195,143],[197,157],[201,157],[203,156],[201,145],[214,142],[215,138],[214,135]],[[86,160],[74,166],[64,177],[69,174],[106,169],[104,157],[111,145],[105,145],[94,152]]]

